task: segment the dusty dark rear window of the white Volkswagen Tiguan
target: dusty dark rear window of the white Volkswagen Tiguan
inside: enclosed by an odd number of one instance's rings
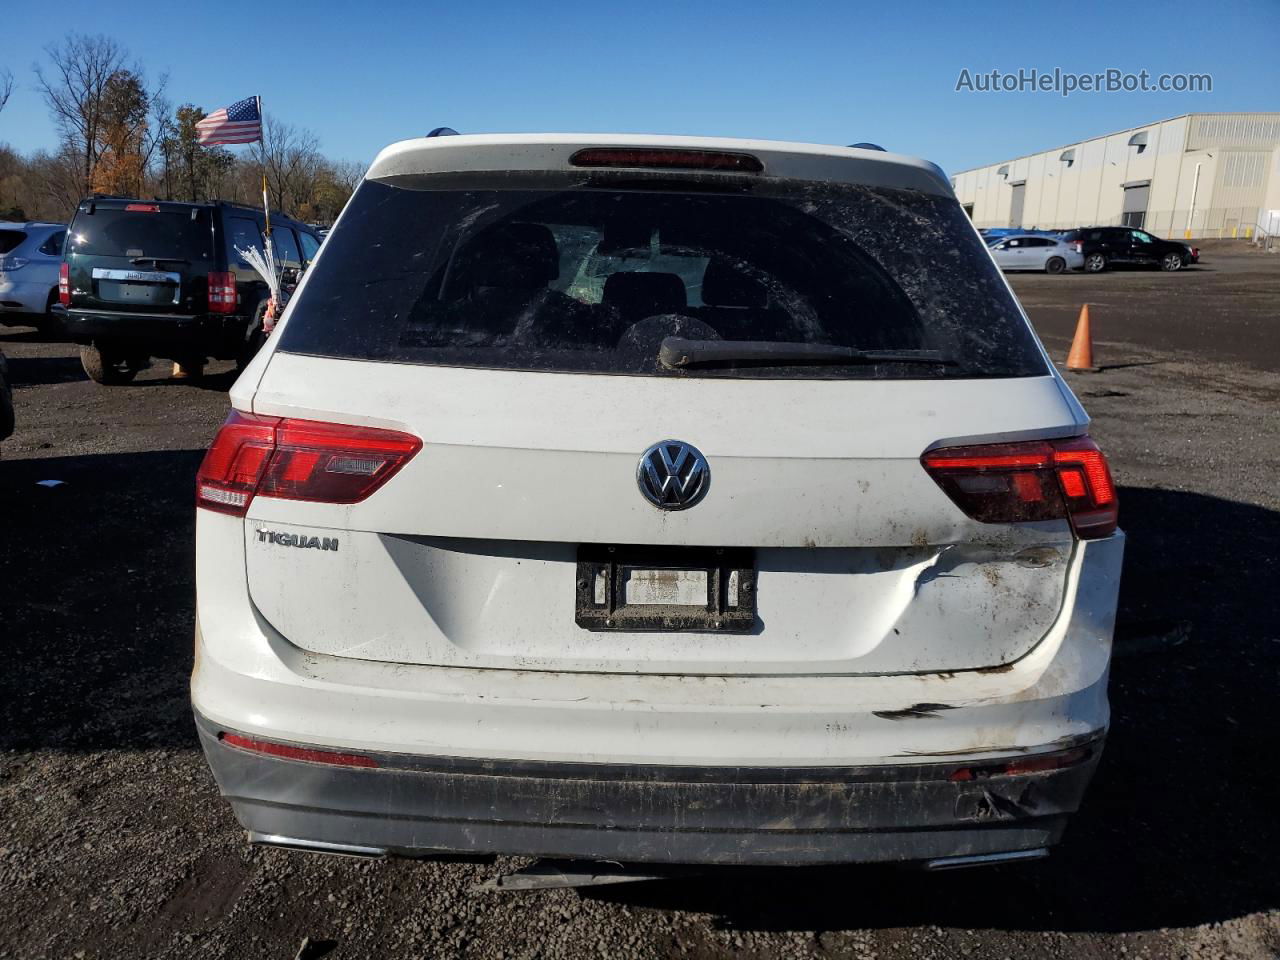
[[[617,174],[532,180],[366,180],[293,305],[280,349],[675,376],[1046,372],[954,200],[813,183],[726,191],[723,179],[707,189],[705,180]],[[671,337],[950,362],[753,356],[669,370],[658,353]]]

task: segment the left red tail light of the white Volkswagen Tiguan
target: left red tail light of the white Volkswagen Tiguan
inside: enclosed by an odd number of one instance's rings
[[[232,411],[196,475],[196,506],[242,517],[253,497],[358,503],[422,448],[411,434]]]

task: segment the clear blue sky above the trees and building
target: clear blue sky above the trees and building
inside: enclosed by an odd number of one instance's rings
[[[1189,111],[1277,110],[1280,0],[215,5],[12,3],[0,65],[18,88],[0,142],[55,133],[31,64],[68,26],[108,33],[169,96],[259,93],[335,159],[462,132],[704,133],[874,141],[947,170]],[[216,50],[216,56],[205,51]],[[957,93],[960,70],[1210,73],[1211,93]]]

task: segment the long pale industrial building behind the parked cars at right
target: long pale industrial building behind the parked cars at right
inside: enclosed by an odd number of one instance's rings
[[[978,227],[1280,233],[1280,113],[1185,114],[952,177]]]

